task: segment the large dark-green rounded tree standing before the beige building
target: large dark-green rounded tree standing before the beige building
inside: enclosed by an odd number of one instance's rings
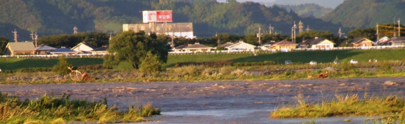
[[[169,52],[166,44],[166,41],[158,40],[155,33],[149,36],[143,31],[122,32],[109,41],[108,52],[112,54],[104,57],[104,66],[112,67],[120,61],[127,61],[133,68],[139,69],[148,52],[159,56],[159,60],[166,63]]]

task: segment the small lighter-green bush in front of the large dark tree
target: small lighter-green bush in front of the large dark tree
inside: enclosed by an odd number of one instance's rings
[[[162,70],[161,67],[162,63],[159,60],[159,56],[156,54],[152,54],[152,52],[148,52],[145,59],[142,61],[139,71],[145,74],[152,74],[156,75]]]

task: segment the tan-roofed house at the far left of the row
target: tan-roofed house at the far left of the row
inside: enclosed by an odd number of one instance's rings
[[[3,53],[6,55],[28,55],[35,54],[35,50],[33,42],[9,42]]]

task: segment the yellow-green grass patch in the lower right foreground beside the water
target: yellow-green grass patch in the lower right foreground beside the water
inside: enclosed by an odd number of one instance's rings
[[[319,104],[307,104],[303,95],[299,94],[296,97],[297,105],[283,106],[272,112],[269,117],[392,116],[398,113],[401,117],[405,115],[405,101],[402,96],[381,98],[369,97],[366,93],[364,98],[359,98],[358,94],[335,97]]]

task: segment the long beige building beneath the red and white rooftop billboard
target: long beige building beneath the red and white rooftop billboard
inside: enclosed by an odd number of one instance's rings
[[[145,31],[156,34],[174,35],[176,37],[194,38],[192,23],[147,23],[123,24],[122,31]]]

